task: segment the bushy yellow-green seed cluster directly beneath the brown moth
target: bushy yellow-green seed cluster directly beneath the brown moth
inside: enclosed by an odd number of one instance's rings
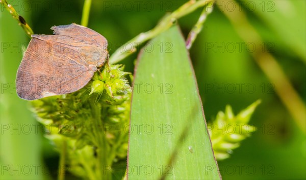
[[[80,91],[32,103],[46,137],[67,157],[64,169],[77,176],[110,178],[114,163],[126,158],[131,87],[122,70],[107,63]]]

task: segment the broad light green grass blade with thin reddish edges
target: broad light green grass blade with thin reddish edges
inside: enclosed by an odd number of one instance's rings
[[[144,47],[135,73],[128,179],[220,179],[185,40],[174,26]]]

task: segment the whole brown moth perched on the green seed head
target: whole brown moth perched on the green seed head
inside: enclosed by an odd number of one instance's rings
[[[108,58],[107,40],[84,26],[54,26],[54,35],[32,35],[20,63],[17,95],[34,100],[84,87]]]

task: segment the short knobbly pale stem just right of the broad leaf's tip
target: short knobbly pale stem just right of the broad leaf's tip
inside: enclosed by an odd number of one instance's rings
[[[188,37],[187,37],[187,40],[186,40],[186,48],[188,50],[191,48],[192,43],[196,39],[197,35],[201,32],[203,24],[204,24],[207,16],[213,11],[213,5],[214,4],[207,5],[203,9],[198,21],[196,22],[196,24],[194,25],[194,27],[192,28],[192,30],[188,34]]]

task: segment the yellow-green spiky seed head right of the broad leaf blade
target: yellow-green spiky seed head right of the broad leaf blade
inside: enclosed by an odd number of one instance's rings
[[[256,127],[248,122],[260,100],[252,103],[235,116],[230,105],[226,105],[224,113],[219,111],[213,123],[208,124],[215,157],[224,160],[230,157],[233,149],[240,146],[240,142],[249,137]]]

